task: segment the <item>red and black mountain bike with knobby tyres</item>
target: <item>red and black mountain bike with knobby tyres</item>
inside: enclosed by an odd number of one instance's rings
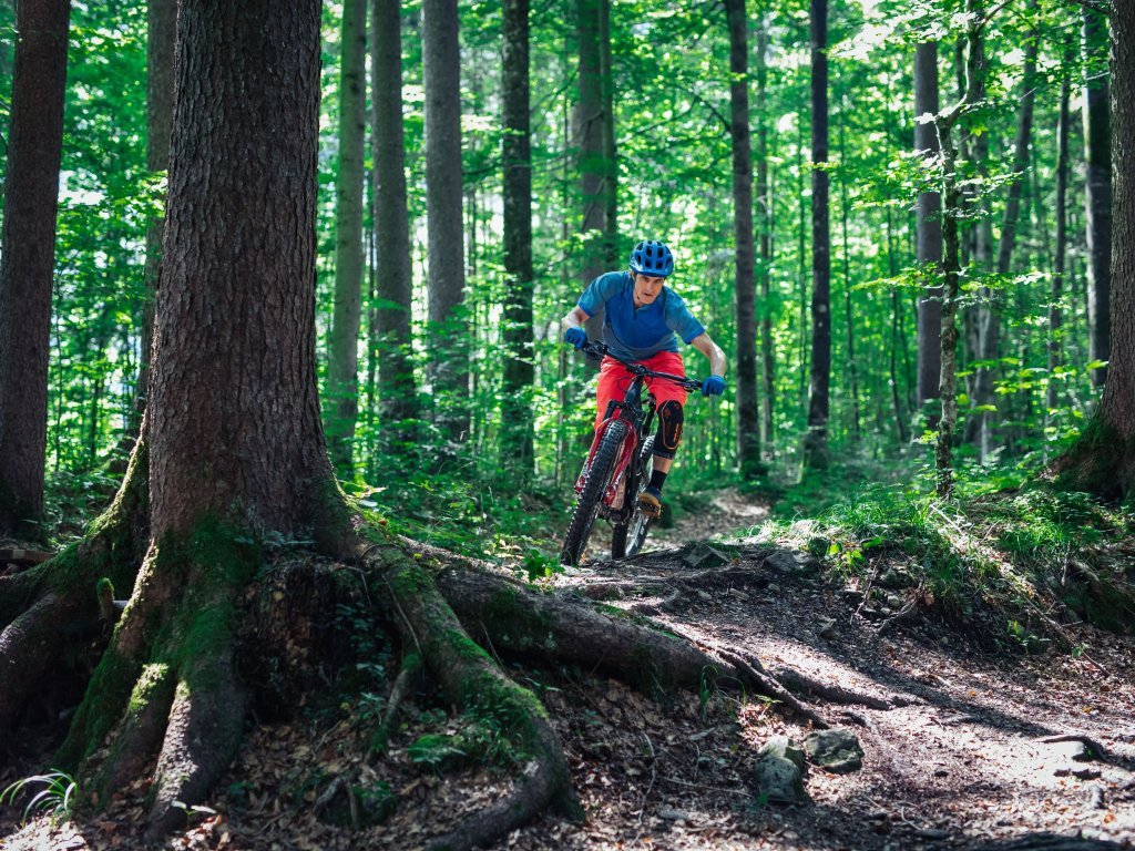
[[[651,517],[639,509],[638,495],[650,483],[654,470],[654,435],[650,433],[657,408],[654,396],[642,389],[647,379],[673,381],[687,390],[700,390],[701,382],[684,376],[656,372],[641,363],[624,361],[598,342],[580,348],[588,357],[613,357],[631,373],[622,402],[612,401],[603,422],[595,430],[591,449],[575,480],[575,511],[572,513],[560,562],[578,565],[596,517],[611,521],[611,557],[625,558],[638,553],[646,541]],[[645,396],[645,398],[644,398]]]

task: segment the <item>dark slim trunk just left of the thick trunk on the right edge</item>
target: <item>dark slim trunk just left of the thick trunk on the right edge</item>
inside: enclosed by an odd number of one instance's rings
[[[1118,7],[1117,7],[1118,8]],[[1112,22],[1115,24],[1115,22]],[[1108,361],[1111,356],[1111,115],[1108,77],[1101,61],[1108,43],[1108,19],[1084,9],[1084,158],[1087,166],[1085,213],[1087,225],[1087,356]],[[1092,370],[1092,382],[1102,387],[1107,366]]]

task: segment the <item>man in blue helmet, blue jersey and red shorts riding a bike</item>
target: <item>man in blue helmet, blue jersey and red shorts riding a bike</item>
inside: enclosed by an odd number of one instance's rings
[[[598,311],[605,311],[603,342],[611,354],[642,363],[658,372],[684,376],[678,337],[709,359],[709,376],[701,382],[701,395],[720,396],[725,391],[725,353],[693,318],[686,302],[665,280],[674,271],[674,255],[663,243],[645,239],[631,251],[630,270],[600,275],[588,285],[579,303],[563,318],[564,342],[580,348],[587,343],[582,325]],[[597,388],[598,428],[608,403],[621,399],[632,376],[619,361],[604,357]],[[654,439],[654,466],[650,482],[639,495],[639,511],[648,517],[662,514],[662,486],[674,463],[682,439],[682,406],[686,389],[672,381],[647,380],[658,405],[658,431]]]

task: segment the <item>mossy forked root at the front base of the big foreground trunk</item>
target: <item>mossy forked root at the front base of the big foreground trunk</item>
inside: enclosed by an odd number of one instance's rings
[[[259,565],[246,540],[207,522],[151,547],[59,755],[96,802],[157,756],[151,839],[184,823],[239,745],[236,600]]]

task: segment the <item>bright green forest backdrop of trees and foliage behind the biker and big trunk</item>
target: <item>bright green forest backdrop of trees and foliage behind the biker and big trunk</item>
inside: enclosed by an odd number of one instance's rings
[[[150,6],[72,3],[36,519],[51,534],[112,492],[138,424],[169,109]],[[440,37],[421,11],[323,6],[321,397],[364,505],[419,539],[544,564],[592,416],[592,372],[558,317],[639,238],[674,250],[671,285],[731,363],[723,399],[687,406],[672,497],[739,483],[791,516],[860,485],[941,488],[935,287],[951,219],[948,466],[981,492],[1079,433],[1109,328],[1108,37],[1091,5],[463,2]],[[8,104],[9,3],[0,33]],[[392,54],[393,86],[378,76]],[[454,103],[431,110],[445,90]],[[967,98],[949,165],[960,201],[943,217],[927,119]],[[454,108],[460,136],[442,124]]]

